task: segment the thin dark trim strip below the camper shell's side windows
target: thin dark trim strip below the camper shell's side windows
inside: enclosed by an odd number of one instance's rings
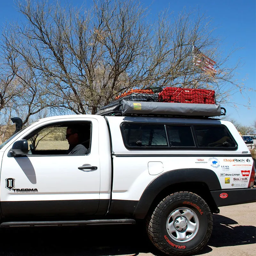
[[[225,156],[225,157],[252,157],[251,154],[114,154],[116,157],[204,157],[204,156]]]

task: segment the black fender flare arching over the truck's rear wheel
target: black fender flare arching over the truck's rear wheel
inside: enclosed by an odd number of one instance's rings
[[[156,196],[170,185],[184,182],[202,182],[209,190],[220,190],[220,181],[210,169],[189,168],[176,169],[156,177],[144,190],[133,213],[136,219],[144,219]],[[185,188],[181,188],[183,191]],[[185,189],[186,190],[186,189]]]

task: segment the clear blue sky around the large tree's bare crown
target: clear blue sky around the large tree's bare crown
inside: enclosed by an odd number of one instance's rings
[[[67,4],[68,1],[60,1]],[[81,6],[82,0],[70,0],[72,5]],[[141,0],[141,4],[148,6],[150,15],[154,18],[158,12],[169,8],[170,11],[178,14],[184,7],[189,9],[199,9],[200,13],[205,13],[212,20],[212,28],[214,36],[223,40],[222,49],[229,52],[232,47],[241,48],[235,52],[230,59],[230,65],[234,65],[240,58],[243,66],[236,72],[236,79],[244,80],[247,87],[256,89],[256,1],[254,0]],[[86,1],[86,5],[91,5],[92,1]],[[0,8],[0,26],[4,26],[5,22],[16,21],[20,18],[20,14],[16,11],[13,1],[1,1]],[[240,93],[236,93],[233,97],[237,108],[223,106],[227,109],[228,118],[236,119],[244,125],[252,124],[256,119],[256,93],[248,92],[251,98],[251,109],[247,109],[240,104],[248,104],[248,97],[243,97]]]

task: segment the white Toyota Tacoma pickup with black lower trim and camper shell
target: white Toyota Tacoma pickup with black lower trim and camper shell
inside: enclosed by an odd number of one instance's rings
[[[70,125],[83,127],[86,155],[67,155],[58,136]],[[256,198],[243,139],[230,122],[207,117],[40,119],[0,145],[0,169],[1,227],[145,220],[169,255],[201,250],[219,206]]]

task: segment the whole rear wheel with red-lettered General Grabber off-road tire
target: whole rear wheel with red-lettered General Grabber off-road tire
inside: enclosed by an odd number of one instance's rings
[[[200,251],[212,234],[212,213],[200,196],[177,192],[166,196],[148,216],[151,242],[169,255],[191,255]]]

